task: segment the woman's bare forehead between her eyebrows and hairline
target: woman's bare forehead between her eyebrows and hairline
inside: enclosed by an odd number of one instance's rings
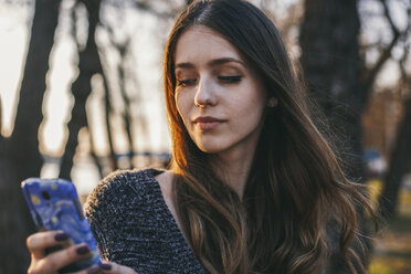
[[[244,62],[241,52],[232,43],[207,27],[190,27],[177,41],[175,63],[201,64],[222,57],[232,57]]]

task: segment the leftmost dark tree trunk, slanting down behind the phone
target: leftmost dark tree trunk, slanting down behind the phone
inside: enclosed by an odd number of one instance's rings
[[[0,273],[27,273],[29,252],[25,238],[34,231],[20,181],[39,177],[42,157],[38,130],[50,52],[59,22],[60,0],[36,0],[14,130],[0,144]]]

